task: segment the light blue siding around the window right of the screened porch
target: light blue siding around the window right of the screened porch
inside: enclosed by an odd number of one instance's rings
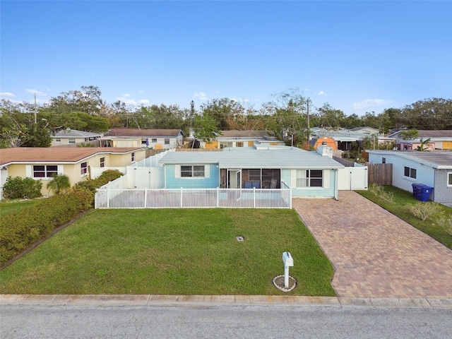
[[[281,180],[290,185],[295,198],[334,198],[335,172],[334,169],[323,169],[323,187],[297,187],[297,169],[282,169]]]

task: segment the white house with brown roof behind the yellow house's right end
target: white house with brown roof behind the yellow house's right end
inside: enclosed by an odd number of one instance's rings
[[[167,150],[182,146],[183,138],[182,129],[112,129],[100,139],[100,145]]]

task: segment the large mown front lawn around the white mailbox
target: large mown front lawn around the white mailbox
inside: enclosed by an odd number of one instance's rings
[[[244,237],[237,242],[235,237]],[[334,296],[333,267],[294,210],[93,210],[0,271],[3,294]]]

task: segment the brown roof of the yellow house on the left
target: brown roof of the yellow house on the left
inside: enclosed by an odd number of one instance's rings
[[[131,153],[143,148],[106,148],[106,147],[49,147],[49,148],[1,148],[0,165],[30,162],[78,162],[87,157],[99,154]]]

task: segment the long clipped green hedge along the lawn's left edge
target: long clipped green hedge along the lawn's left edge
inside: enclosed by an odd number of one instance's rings
[[[122,175],[116,170],[107,170],[99,178],[75,185],[65,194],[39,201],[35,206],[20,212],[5,215],[0,219],[0,266],[20,252],[40,241],[53,230],[85,210],[94,203],[95,189]]]

